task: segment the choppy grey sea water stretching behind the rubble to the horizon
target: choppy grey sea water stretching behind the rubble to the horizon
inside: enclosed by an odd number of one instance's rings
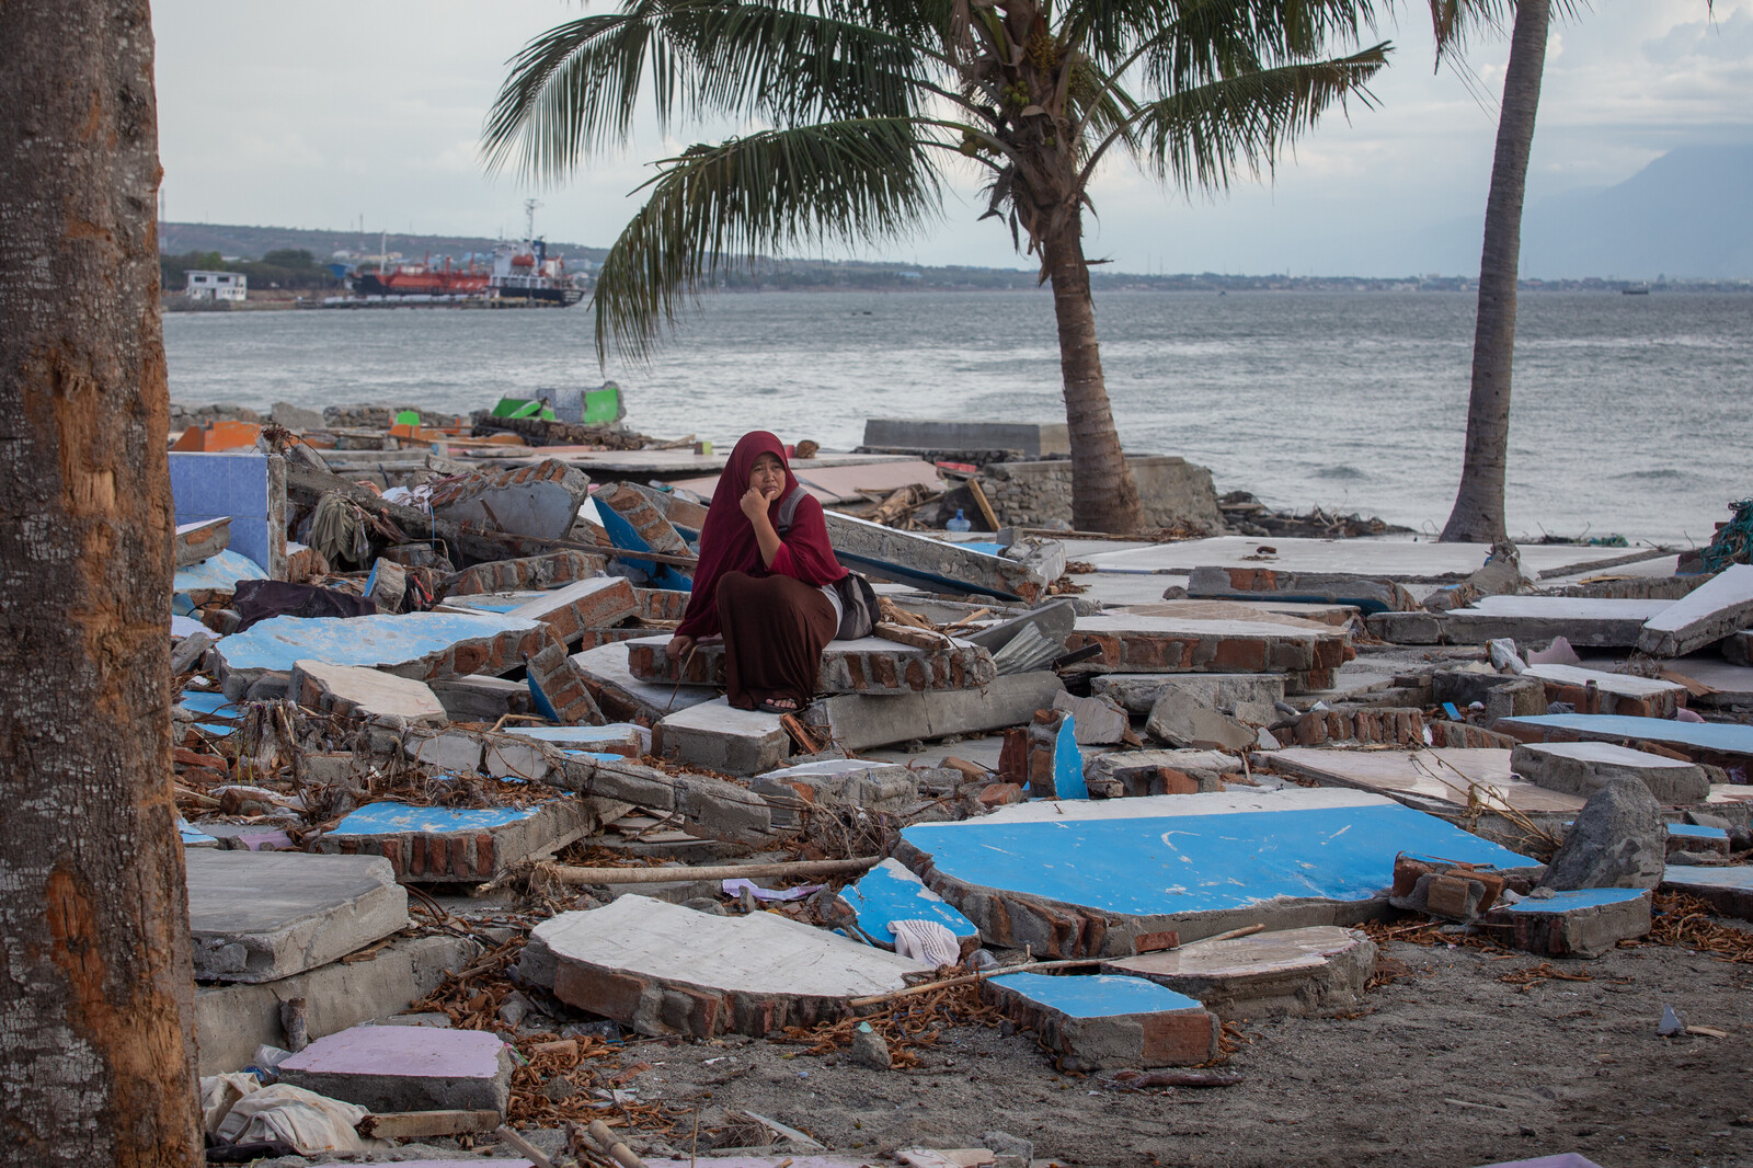
[[[1211,468],[1218,491],[1434,531],[1460,475],[1474,296],[1097,291],[1129,451]],[[466,414],[561,386],[624,389],[628,424],[727,445],[829,449],[866,417],[1062,421],[1052,298],[1013,293],[706,296],[649,365],[596,361],[589,305],[167,314],[172,400]],[[1509,530],[1707,542],[1753,496],[1753,295],[1523,293]]]

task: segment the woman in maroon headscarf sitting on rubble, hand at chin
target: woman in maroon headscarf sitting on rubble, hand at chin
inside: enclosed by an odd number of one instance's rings
[[[827,544],[822,503],[798,486],[785,447],[764,430],[745,433],[712,493],[694,595],[668,654],[685,661],[698,642],[722,637],[731,705],[796,714],[841,628],[836,584],[850,579]]]

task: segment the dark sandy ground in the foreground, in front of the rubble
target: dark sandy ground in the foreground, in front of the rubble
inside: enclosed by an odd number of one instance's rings
[[[629,1086],[761,1112],[892,1163],[1003,1129],[1064,1164],[1490,1164],[1581,1152],[1604,1168],[1753,1166],[1753,966],[1643,947],[1499,980],[1529,954],[1390,944],[1408,973],[1364,1012],[1245,1024],[1224,1089],[1115,1091],[1054,1072],[1029,1035],[957,1028],[912,1072],[731,1038],[629,1047]],[[1728,1038],[1658,1038],[1662,1005]],[[785,1058],[791,1054],[792,1058]],[[684,1154],[687,1147],[678,1149]]]

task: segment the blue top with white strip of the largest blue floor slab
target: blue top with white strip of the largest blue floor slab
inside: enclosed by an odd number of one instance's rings
[[[1336,789],[1026,803],[901,837],[952,880],[1141,917],[1374,900],[1394,882],[1399,852],[1539,863],[1436,815]]]

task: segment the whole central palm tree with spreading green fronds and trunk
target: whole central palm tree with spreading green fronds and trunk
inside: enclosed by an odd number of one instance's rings
[[[598,356],[645,356],[678,302],[763,253],[905,237],[952,167],[1052,284],[1073,521],[1143,526],[1108,407],[1083,254],[1097,167],[1131,158],[1182,191],[1269,172],[1362,88],[1371,0],[626,0],[529,42],[487,118],[498,168],[556,181],[626,144],[649,91],[664,128],[757,125],[659,163],[603,263]]]

